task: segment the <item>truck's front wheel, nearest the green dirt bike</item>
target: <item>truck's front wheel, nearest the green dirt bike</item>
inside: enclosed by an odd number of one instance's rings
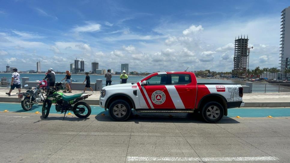
[[[131,108],[128,102],[124,100],[113,101],[109,107],[109,114],[113,120],[125,121],[131,115]]]

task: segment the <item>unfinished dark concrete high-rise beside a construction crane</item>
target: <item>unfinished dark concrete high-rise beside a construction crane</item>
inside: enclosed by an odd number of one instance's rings
[[[241,38],[238,36],[238,39],[235,40],[234,47],[234,70],[232,71],[234,74],[240,71],[247,70],[247,61],[248,61],[248,36],[247,38]]]

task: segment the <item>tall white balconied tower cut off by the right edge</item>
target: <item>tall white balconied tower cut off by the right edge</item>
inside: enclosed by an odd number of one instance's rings
[[[279,61],[281,61],[281,79],[284,80],[285,78],[287,78],[287,76],[285,76],[285,69],[290,69],[290,6],[288,8],[285,8],[284,10],[282,10],[281,12],[281,16],[282,16],[282,21],[281,21],[281,28],[282,29],[280,32],[282,32],[281,35],[281,50],[280,50],[280,57],[281,58]]]

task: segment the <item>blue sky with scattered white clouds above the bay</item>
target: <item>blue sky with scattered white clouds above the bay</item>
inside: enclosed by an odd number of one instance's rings
[[[287,0],[24,1],[0,0],[0,70],[225,72],[234,40],[249,37],[249,68],[278,67],[281,11]]]

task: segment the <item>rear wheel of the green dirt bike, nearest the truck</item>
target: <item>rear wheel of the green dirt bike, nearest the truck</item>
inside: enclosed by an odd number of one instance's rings
[[[79,118],[86,118],[91,115],[92,109],[89,104],[86,102],[78,102],[74,105],[73,108],[74,115],[76,115]]]

